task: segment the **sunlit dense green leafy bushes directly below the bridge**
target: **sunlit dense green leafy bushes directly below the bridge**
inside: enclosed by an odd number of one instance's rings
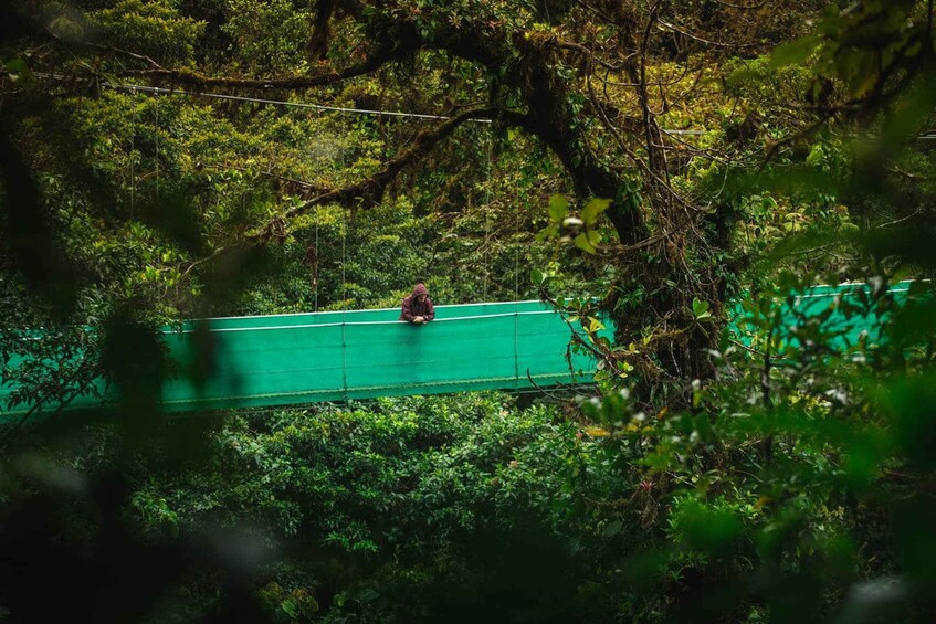
[[[496,396],[466,399],[232,421],[218,435],[212,477],[227,486],[206,490],[206,475],[193,474],[164,484],[158,500],[189,523],[251,520],[347,553],[389,552],[427,530],[471,531],[518,505],[561,508],[543,462],[570,430],[544,411],[512,414]],[[488,505],[495,516],[478,518]]]

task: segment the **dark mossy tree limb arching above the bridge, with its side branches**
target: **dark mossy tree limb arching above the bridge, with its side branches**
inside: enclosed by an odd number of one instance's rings
[[[575,91],[574,83],[562,78],[554,66],[562,50],[556,41],[550,38],[526,38],[523,33],[512,32],[503,24],[475,22],[460,27],[443,24],[433,33],[425,34],[419,30],[419,24],[412,17],[395,14],[374,18],[354,13],[347,8],[345,11],[346,14],[367,21],[369,30],[382,34],[374,42],[372,52],[365,62],[341,71],[325,68],[308,76],[273,80],[212,77],[186,68],[145,68],[125,75],[200,87],[304,89],[362,76],[387,64],[404,61],[421,51],[443,52],[474,63],[492,76],[498,76],[492,80],[515,94],[515,104],[511,108],[520,112],[506,113],[502,120],[522,128],[548,146],[569,172],[580,197],[603,197],[612,200],[607,215],[621,243],[634,243],[646,237],[646,223],[637,209],[637,202],[631,201],[630,197],[625,197],[628,193],[622,191],[622,168],[616,167],[611,160],[600,157],[592,149],[586,136],[586,124],[577,119],[579,113],[571,95]],[[504,108],[503,105],[501,107]],[[461,123],[458,119],[464,120],[462,116],[458,116],[453,119],[455,125]],[[453,127],[449,123],[442,124],[439,127],[439,138],[448,136]],[[420,140],[438,142],[429,136]],[[316,204],[329,201],[348,204],[358,197],[369,201],[382,192],[399,172],[398,169],[413,162],[421,155],[421,148],[412,154],[404,151],[398,157],[400,160],[390,161],[383,170],[368,180],[311,201]],[[315,204],[303,204],[303,208],[309,205]]]

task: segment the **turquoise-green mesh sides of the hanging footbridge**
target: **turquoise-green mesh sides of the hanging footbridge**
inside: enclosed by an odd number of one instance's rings
[[[786,304],[778,304],[778,309],[785,321],[796,324],[801,316],[818,317],[834,308],[841,296],[851,296],[855,288],[864,287],[818,286],[798,297],[795,309]],[[902,302],[907,289],[902,283],[891,292]],[[164,380],[162,406],[170,412],[220,410],[522,390],[593,379],[595,360],[583,352],[570,352],[569,325],[540,302],[435,309],[435,320],[424,326],[398,321],[398,309],[188,321],[180,330],[162,334],[176,369],[176,374]],[[745,315],[740,306],[733,311],[735,332],[742,339]],[[862,331],[876,327],[877,320],[837,315],[825,322],[841,324],[839,339],[854,341]],[[601,334],[610,338],[613,328],[608,324]],[[14,357],[8,367],[18,363]],[[103,382],[98,388],[103,389]],[[0,417],[25,414],[32,408],[10,408],[12,391],[9,384],[0,387]],[[85,395],[69,408],[98,404]]]

